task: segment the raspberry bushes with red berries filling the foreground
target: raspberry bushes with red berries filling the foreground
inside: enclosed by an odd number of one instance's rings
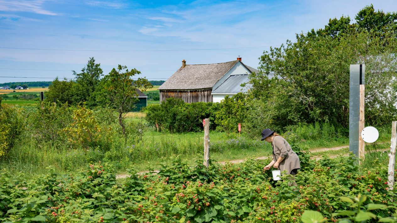
[[[384,166],[350,167],[352,157],[312,161],[295,187],[287,176],[271,181],[263,170],[268,160],[208,168],[201,160],[177,157],[157,174],[129,170],[121,180],[102,162],[68,175],[48,169],[29,181],[2,171],[0,221],[395,222],[396,195],[384,189]]]

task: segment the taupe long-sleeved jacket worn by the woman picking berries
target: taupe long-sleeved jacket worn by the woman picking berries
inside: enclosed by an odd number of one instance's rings
[[[291,146],[281,136],[274,136],[273,142],[273,160],[277,162],[278,158],[285,157],[283,161],[281,161],[279,165],[279,169],[281,172],[286,170],[287,174],[291,174],[291,170],[293,169],[301,169],[301,163],[299,161],[298,155],[292,151]]]

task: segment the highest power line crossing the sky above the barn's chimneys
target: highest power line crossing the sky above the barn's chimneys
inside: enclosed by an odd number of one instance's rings
[[[13,50],[52,50],[52,51],[83,51],[83,52],[170,52],[170,51],[197,51],[197,50],[233,50],[233,49],[261,48],[261,47],[270,47],[270,46],[249,46],[249,47],[207,48],[207,49],[185,49],[185,50],[67,50],[67,49],[17,48],[17,47],[0,47],[0,48],[2,48],[2,49],[13,49]]]

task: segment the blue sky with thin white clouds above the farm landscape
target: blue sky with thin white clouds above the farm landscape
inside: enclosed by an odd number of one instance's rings
[[[258,67],[270,46],[395,0],[0,0],[0,83],[73,78],[94,57],[166,80],[180,66],[236,60]],[[11,78],[16,77],[16,78]],[[28,78],[21,78],[28,77]],[[37,78],[41,77],[41,78]]]

